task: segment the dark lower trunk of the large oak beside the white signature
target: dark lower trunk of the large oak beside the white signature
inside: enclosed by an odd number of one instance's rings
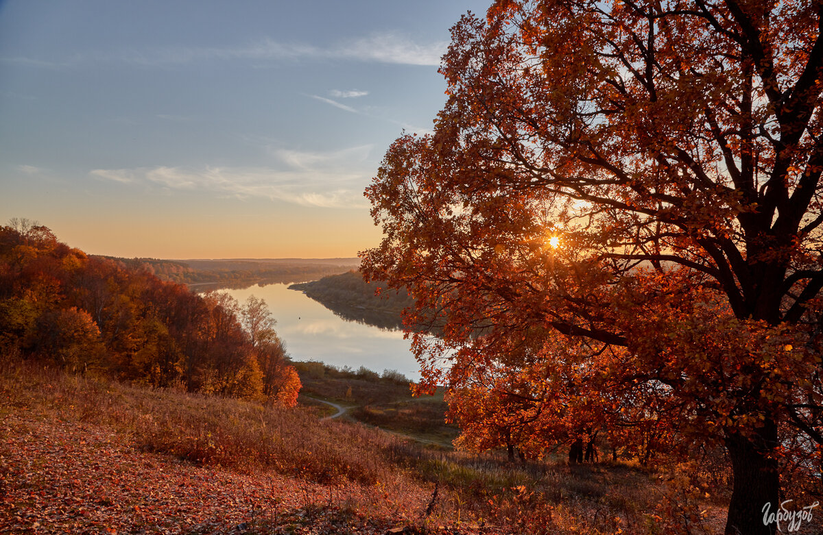
[[[732,500],[725,535],[774,535],[775,523],[763,522],[763,507],[779,509],[778,465],[770,452],[778,444],[777,426],[768,420],[756,436],[730,434],[726,448],[732,459]]]

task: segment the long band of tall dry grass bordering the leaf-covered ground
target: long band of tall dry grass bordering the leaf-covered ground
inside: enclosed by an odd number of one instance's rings
[[[138,450],[249,477],[275,471],[294,476],[295,485],[351,482],[369,488],[382,511],[395,511],[416,533],[440,533],[441,525],[459,533],[673,533],[658,506],[665,488],[639,468],[510,464],[426,449],[351,422],[319,422],[310,408],[147,390],[25,362],[0,366],[0,396],[2,418],[25,413],[35,421],[95,424]]]

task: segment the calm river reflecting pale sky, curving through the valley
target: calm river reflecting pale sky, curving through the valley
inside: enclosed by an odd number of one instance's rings
[[[287,284],[221,292],[230,293],[241,305],[249,295],[265,299],[292,360],[316,360],[354,370],[365,366],[378,373],[397,370],[411,380],[420,379],[411,342],[403,339],[402,331],[343,320],[304,293],[288,289]]]

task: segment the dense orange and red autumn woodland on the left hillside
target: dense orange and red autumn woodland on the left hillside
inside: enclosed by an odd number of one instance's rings
[[[293,406],[300,379],[260,300],[199,296],[87,256],[48,228],[0,228],[0,350],[68,371]],[[240,316],[253,316],[243,325]],[[244,326],[246,328],[244,328]],[[253,329],[249,329],[249,326]]]

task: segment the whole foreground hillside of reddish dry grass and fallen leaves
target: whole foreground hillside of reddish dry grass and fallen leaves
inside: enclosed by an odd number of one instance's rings
[[[137,533],[128,525],[138,513],[156,533],[653,534],[683,523],[701,533],[695,520],[722,531],[722,505],[690,503],[663,474],[632,465],[509,464],[319,421],[314,407],[149,390],[26,362],[2,364],[0,395],[0,533]],[[368,406],[402,414],[406,403]],[[94,462],[49,475],[67,451]],[[118,476],[127,464],[135,472]],[[105,486],[123,477],[133,480],[127,497],[123,485]],[[179,503],[184,491],[197,507]],[[691,518],[695,510],[705,518]],[[203,520],[203,511],[216,512]]]

